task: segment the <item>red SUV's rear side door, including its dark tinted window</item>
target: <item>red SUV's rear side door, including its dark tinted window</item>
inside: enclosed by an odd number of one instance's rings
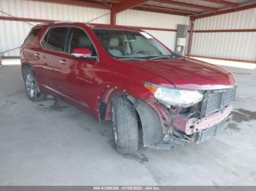
[[[69,28],[64,26],[49,28],[41,42],[45,50],[42,55],[45,58],[43,61],[45,86],[57,93],[61,93],[59,77],[64,72],[63,67],[67,63],[64,47],[68,31]]]

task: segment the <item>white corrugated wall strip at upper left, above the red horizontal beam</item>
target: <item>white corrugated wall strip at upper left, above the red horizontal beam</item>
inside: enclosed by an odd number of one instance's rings
[[[48,20],[72,20],[87,22],[110,12],[108,9],[79,7],[33,0],[0,0],[0,9],[15,17],[29,17]],[[0,15],[4,15],[0,13]],[[101,17],[94,23],[110,23],[110,15]]]

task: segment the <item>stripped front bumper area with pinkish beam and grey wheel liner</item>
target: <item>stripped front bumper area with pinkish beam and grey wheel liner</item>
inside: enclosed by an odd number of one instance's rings
[[[170,116],[162,104],[138,101],[135,108],[143,128],[143,145],[152,149],[171,149],[177,144],[187,144],[211,139],[227,129],[232,106],[209,117],[198,119],[182,115]]]

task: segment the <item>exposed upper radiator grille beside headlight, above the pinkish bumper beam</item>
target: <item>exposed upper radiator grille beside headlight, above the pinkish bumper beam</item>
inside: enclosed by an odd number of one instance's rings
[[[208,117],[215,112],[222,111],[230,105],[233,102],[235,91],[235,88],[206,91],[201,110],[203,117]]]

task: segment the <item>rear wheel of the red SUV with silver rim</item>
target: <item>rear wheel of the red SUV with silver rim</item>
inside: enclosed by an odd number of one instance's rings
[[[34,77],[33,71],[31,71],[30,69],[27,69],[24,72],[24,81],[25,81],[26,93],[31,99],[31,101],[42,101],[46,98],[46,95],[39,91],[37,80]]]

